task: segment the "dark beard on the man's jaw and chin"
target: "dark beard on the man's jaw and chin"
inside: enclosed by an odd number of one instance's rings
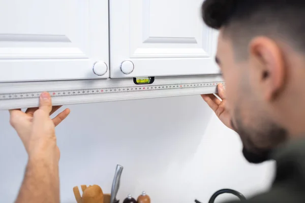
[[[256,119],[258,122],[252,122],[253,126],[246,126],[239,112],[236,113],[235,128],[243,144],[243,156],[250,163],[270,160],[273,149],[287,140],[287,130],[272,122],[267,116]]]

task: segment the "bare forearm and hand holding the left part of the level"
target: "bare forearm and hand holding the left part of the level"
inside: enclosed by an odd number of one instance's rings
[[[16,203],[59,203],[59,149],[55,126],[70,113],[66,109],[54,119],[50,115],[60,107],[52,108],[49,93],[42,93],[39,108],[10,110],[11,125],[16,129],[28,154],[24,179]]]

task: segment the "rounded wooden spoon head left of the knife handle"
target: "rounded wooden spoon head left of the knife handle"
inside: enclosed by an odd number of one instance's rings
[[[103,190],[98,185],[87,187],[82,195],[83,203],[104,203]]]

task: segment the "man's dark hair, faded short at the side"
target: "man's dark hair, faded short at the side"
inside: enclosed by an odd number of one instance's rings
[[[201,12],[207,26],[222,28],[238,47],[246,48],[253,37],[263,35],[305,52],[303,0],[205,0]]]

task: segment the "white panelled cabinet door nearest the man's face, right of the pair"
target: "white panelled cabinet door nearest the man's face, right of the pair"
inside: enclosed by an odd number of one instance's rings
[[[202,0],[110,0],[111,78],[218,74]]]

